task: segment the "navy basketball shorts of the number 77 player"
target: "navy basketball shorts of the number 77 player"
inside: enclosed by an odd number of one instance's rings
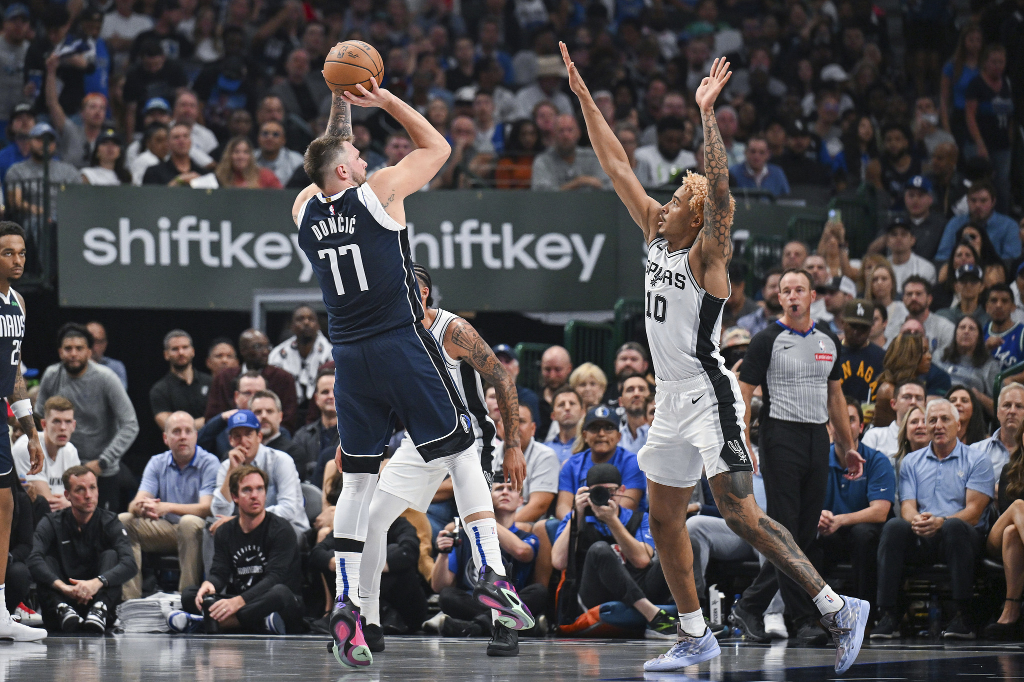
[[[423,325],[335,346],[333,355],[343,471],[377,473],[396,420],[424,461],[476,443],[469,411]]]

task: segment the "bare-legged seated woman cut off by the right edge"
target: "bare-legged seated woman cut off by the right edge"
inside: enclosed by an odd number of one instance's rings
[[[1007,576],[1007,598],[999,618],[985,628],[988,639],[1017,640],[1024,634],[1021,623],[1021,593],[1024,592],[1024,447],[1020,429],[1010,461],[999,474],[999,518],[988,534],[986,549],[994,559],[1002,559]]]

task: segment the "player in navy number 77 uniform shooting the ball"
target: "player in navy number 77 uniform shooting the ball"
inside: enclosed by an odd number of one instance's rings
[[[456,468],[466,471],[465,488],[475,497],[486,496],[489,503],[472,417],[436,339],[420,322],[424,309],[406,231],[404,198],[437,174],[451,147],[416,109],[380,88],[376,79],[370,83],[371,90],[358,85],[356,94],[340,86],[334,89],[327,133],[309,144],[303,162],[313,182],[296,197],[292,210],[299,245],[324,293],[337,367],[336,463],[344,479],[334,520],[338,599],[330,628],[335,657],[351,668],[373,663],[359,618],[359,561],[370,502],[395,418],[424,461],[442,462],[453,474]],[[384,109],[416,146],[369,181],[367,163],[351,141],[351,104]],[[515,454],[511,461],[506,457],[506,475],[521,488],[525,463],[521,452]],[[457,461],[471,461],[472,467],[457,466]],[[459,499],[460,482],[453,484]],[[530,627],[532,619],[504,580],[493,509],[470,514],[466,526],[473,538],[473,558],[481,566],[478,589],[487,605],[510,622]]]

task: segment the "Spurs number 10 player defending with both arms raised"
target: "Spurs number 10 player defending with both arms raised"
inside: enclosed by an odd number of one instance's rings
[[[594,103],[568,50],[560,43],[569,87],[580,97],[587,131],[601,168],[647,241],[646,329],[657,375],[654,421],[638,453],[647,474],[650,530],[662,567],[679,607],[678,640],[644,664],[646,671],[676,671],[721,653],[705,625],[693,582],[693,551],[683,511],[705,469],[729,528],[803,587],[821,611],[836,642],[836,672],[857,657],[868,603],[840,596],[814,570],[793,536],[754,501],[753,463],[743,436],[745,410],[735,375],[719,354],[722,308],[729,298],[732,215],[725,146],[715,121],[715,100],[732,72],[715,59],[700,82],[696,103],[705,134],[702,177],[687,173],[665,206],[647,196],[626,151]],[[836,452],[850,478],[863,461],[847,427],[837,429]]]

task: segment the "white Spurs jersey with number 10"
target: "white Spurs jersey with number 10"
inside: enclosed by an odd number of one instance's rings
[[[655,237],[647,247],[645,326],[654,373],[663,381],[699,374],[715,379],[725,364],[719,354],[725,301],[696,284],[689,253],[681,248],[670,254],[663,237]]]

